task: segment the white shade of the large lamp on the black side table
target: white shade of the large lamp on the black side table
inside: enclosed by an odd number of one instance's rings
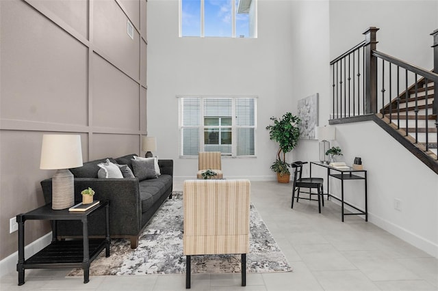
[[[81,167],[80,135],[43,135],[40,169],[69,169]]]

